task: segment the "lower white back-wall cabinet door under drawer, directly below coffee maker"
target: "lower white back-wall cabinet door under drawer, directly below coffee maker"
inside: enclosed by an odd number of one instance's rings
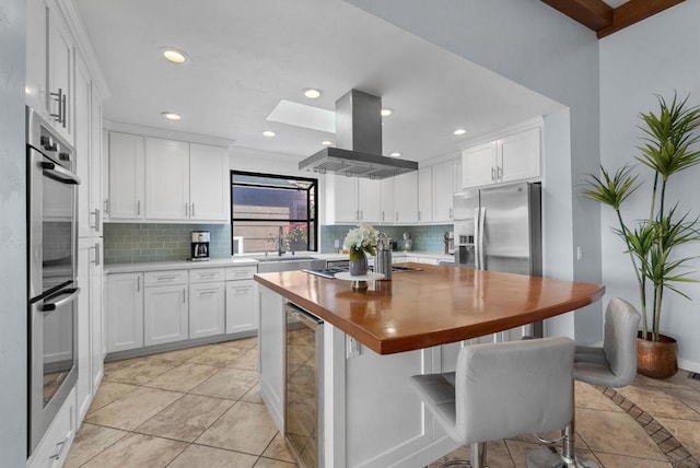
[[[189,338],[210,337],[224,332],[224,282],[189,285]]]

